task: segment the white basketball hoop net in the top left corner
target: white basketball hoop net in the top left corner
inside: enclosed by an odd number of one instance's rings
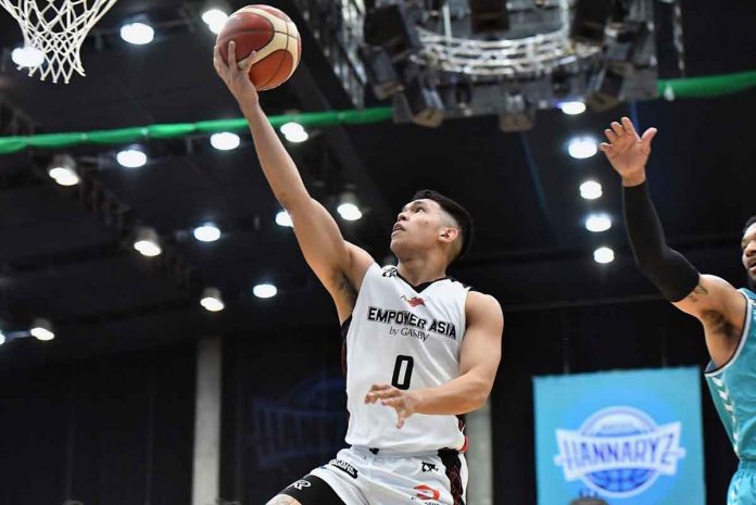
[[[79,50],[89,30],[117,0],[0,0],[18,22],[24,47],[43,54],[43,62],[28,68],[29,76],[51,77],[65,84],[76,71],[84,76]],[[23,66],[18,66],[18,70]]]

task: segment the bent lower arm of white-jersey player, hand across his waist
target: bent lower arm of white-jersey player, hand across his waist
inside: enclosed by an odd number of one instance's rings
[[[499,302],[471,291],[465,305],[467,329],[459,349],[459,376],[433,388],[403,391],[374,384],[365,403],[381,402],[396,411],[396,428],[413,414],[459,415],[480,408],[489,397],[501,361],[504,316]]]

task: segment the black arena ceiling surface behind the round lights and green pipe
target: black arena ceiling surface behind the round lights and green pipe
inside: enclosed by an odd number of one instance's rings
[[[293,9],[290,2],[272,4]],[[99,25],[104,35],[85,43],[87,76],[56,86],[10,63],[10,50],[22,38],[11,16],[0,12],[0,101],[38,132],[239,117],[212,68],[212,34],[166,22],[153,43],[135,47],[108,33],[137,13],[191,20],[199,7],[121,0]],[[756,68],[756,12],[745,2],[715,8],[690,0],[683,7],[688,75]],[[303,63],[290,83],[264,93],[265,110],[273,115],[349,108],[312,34],[300,28]],[[668,24],[657,23],[657,31],[660,77],[678,77]],[[306,142],[288,147],[313,194],[331,211],[338,194],[353,189],[364,217],[340,222],[343,233],[379,262],[389,254],[394,215],[414,190],[433,188],[464,203],[476,219],[476,240],[453,275],[497,296],[505,311],[528,311],[657,296],[632,264],[619,181],[608,164],[601,154],[574,160],[566,152],[571,137],[598,137],[621,115],[659,128],[650,179],[670,242],[701,269],[741,282],[741,225],[756,213],[755,105],[752,89],[578,116],[541,111],[533,129],[517,134],[502,132],[495,117],[449,121],[436,129],[386,122],[314,130]],[[336,328],[336,313],[291,229],[274,222],[279,207],[249,137],[229,152],[213,150],[201,137],[146,148],[150,162],[138,169],[118,166],[112,146],[67,151],[86,167],[89,188],[99,195],[94,201],[47,177],[52,151],[0,155],[0,329],[20,332],[33,318],[46,317],[56,333],[51,342],[8,342],[0,348],[0,366],[207,334],[253,336],[274,326]],[[601,199],[579,198],[588,178],[603,185]],[[613,228],[588,232],[583,219],[591,211],[608,213]],[[169,257],[139,255],[113,219],[156,228]],[[204,222],[219,226],[220,240],[191,237]],[[603,244],[614,248],[614,263],[593,261],[592,251]],[[277,285],[277,296],[252,295],[263,280]],[[225,311],[211,314],[200,306],[207,286],[223,292]]]

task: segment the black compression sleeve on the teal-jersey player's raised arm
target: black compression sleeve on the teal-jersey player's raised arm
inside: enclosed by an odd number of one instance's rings
[[[635,263],[670,302],[679,302],[698,285],[698,272],[665,242],[648,185],[625,188],[625,223]]]

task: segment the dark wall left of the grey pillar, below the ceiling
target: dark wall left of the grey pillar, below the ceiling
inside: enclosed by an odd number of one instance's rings
[[[193,343],[0,373],[0,504],[188,504],[193,422]]]

